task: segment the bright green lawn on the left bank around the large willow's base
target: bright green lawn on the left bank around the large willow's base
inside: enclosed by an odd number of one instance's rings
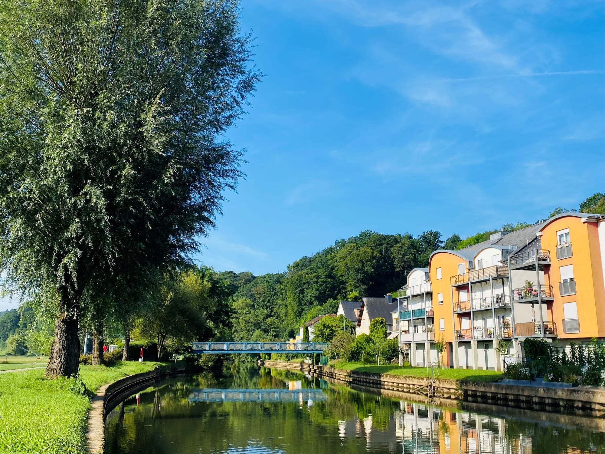
[[[80,366],[90,392],[104,383],[163,363],[120,361]],[[85,453],[90,398],[78,380],[44,378],[44,370],[0,374],[0,452]]]

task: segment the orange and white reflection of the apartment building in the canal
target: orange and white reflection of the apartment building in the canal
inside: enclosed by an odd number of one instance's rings
[[[404,453],[531,454],[531,438],[506,436],[506,420],[401,402],[397,439]]]

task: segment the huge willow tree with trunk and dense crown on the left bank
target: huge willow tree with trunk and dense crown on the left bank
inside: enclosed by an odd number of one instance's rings
[[[0,266],[56,294],[48,376],[77,372],[89,285],[146,281],[214,225],[250,47],[237,1],[0,0]]]

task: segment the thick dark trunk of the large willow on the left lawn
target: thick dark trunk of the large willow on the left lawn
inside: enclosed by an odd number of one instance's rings
[[[75,312],[77,314],[77,311]],[[46,377],[70,377],[80,366],[80,340],[77,315],[62,312],[54,320],[54,342],[48,357]]]

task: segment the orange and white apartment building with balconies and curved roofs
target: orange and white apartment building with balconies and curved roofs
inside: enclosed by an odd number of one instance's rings
[[[573,246],[572,246],[573,245]],[[605,337],[605,217],[565,213],[500,231],[460,251],[431,254],[397,291],[393,326],[410,363],[502,370],[528,337],[569,345]],[[509,343],[510,341],[510,343]]]

